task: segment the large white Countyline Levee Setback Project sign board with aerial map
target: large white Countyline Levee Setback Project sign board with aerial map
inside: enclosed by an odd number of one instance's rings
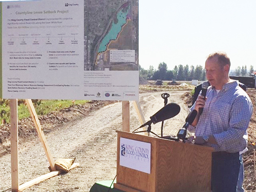
[[[138,100],[138,1],[2,3],[2,98]]]

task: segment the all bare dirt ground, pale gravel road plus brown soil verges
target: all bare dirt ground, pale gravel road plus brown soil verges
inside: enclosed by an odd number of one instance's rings
[[[150,120],[164,106],[161,94],[167,91],[154,87],[141,89],[140,106],[145,119]],[[181,106],[181,112],[164,123],[164,135],[176,135],[184,124],[191,98],[187,91],[171,91],[169,102]],[[244,154],[246,191],[256,191],[253,150],[256,143],[256,90],[248,89],[254,111],[248,127],[248,149]],[[89,191],[101,180],[113,180],[116,175],[116,130],[122,129],[121,102],[92,101],[84,105],[73,105],[60,112],[40,116],[39,120],[47,138],[54,160],[76,158],[80,166],[68,174],[61,174],[34,185],[24,191]],[[131,131],[140,122],[130,102]],[[11,191],[10,125],[0,126],[0,191]],[[152,131],[160,135],[161,123],[152,125]],[[37,138],[31,118],[18,124],[19,132],[19,183],[30,181],[49,173],[46,155]]]

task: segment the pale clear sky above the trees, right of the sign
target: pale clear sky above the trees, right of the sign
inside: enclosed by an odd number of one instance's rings
[[[139,64],[168,70],[204,67],[207,56],[226,52],[230,69],[256,69],[255,0],[139,0]]]

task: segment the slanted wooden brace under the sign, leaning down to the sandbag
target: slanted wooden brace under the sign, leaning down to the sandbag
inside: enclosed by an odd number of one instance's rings
[[[42,132],[41,124],[40,124],[40,121],[39,121],[39,119],[37,117],[37,114],[36,114],[34,105],[32,103],[32,100],[31,99],[26,99],[26,103],[28,105],[28,109],[29,109],[29,112],[31,114],[32,120],[33,120],[33,122],[35,124],[36,131],[38,133],[38,137],[39,137],[39,139],[40,139],[40,141],[42,143],[42,147],[44,147],[47,159],[48,159],[48,161],[50,163],[51,170],[53,171],[53,170],[55,170],[55,166],[54,166],[55,163],[54,163],[54,160],[53,160],[53,157],[52,157],[49,145],[46,142],[45,134],[44,134],[44,132]]]

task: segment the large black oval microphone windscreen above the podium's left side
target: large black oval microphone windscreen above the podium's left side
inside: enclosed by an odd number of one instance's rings
[[[150,119],[154,124],[172,118],[180,113],[180,106],[177,103],[166,104],[162,109],[155,113]]]

